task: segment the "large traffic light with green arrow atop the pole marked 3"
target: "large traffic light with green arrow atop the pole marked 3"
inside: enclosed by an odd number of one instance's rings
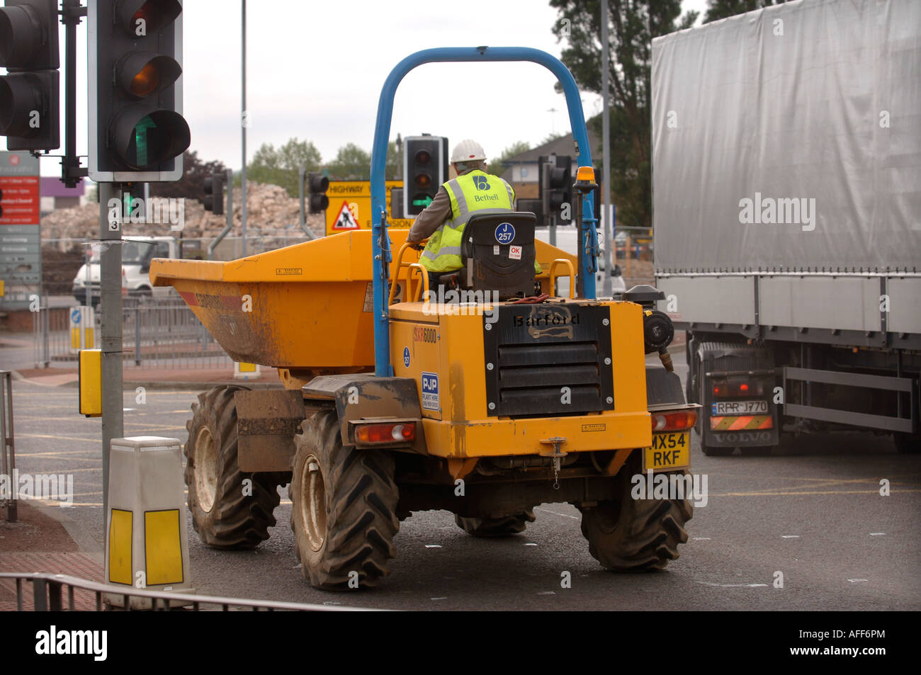
[[[89,177],[180,180],[189,124],[182,117],[179,0],[89,0]]]

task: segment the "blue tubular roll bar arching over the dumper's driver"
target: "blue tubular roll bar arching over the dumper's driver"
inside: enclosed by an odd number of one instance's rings
[[[585,127],[585,115],[578,87],[572,73],[559,59],[537,49],[528,47],[439,47],[415,52],[403,59],[391,70],[378,101],[378,118],[374,129],[374,145],[371,149],[371,252],[373,256],[374,281],[374,372],[379,378],[393,377],[391,366],[390,331],[388,329],[387,281],[391,262],[390,242],[387,238],[386,193],[384,174],[387,164],[387,145],[391,135],[393,97],[402,78],[415,67],[437,62],[473,61],[530,61],[546,67],[559,80],[569,109],[569,125],[578,145],[578,166],[591,166],[589,134]],[[589,193],[590,194],[590,193]],[[590,238],[592,250],[597,250],[595,241],[593,204],[589,196],[582,200],[582,222],[580,241]],[[585,297],[595,297],[595,261],[581,256],[581,275]]]

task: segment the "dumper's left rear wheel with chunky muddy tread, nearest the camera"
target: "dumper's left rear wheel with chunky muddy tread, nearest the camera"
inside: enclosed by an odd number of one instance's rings
[[[316,413],[301,429],[290,493],[304,576],[326,590],[377,586],[390,574],[400,529],[393,458],[344,446],[332,412]]]

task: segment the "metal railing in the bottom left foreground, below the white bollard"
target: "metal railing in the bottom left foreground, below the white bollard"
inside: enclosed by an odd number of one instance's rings
[[[331,605],[314,605],[300,602],[281,602],[275,600],[253,600],[242,598],[223,598],[219,596],[194,595],[191,593],[171,593],[141,588],[125,588],[87,581],[76,576],[52,575],[32,572],[0,572],[0,579],[13,579],[16,581],[16,609],[17,611],[80,611],[81,604],[76,599],[75,589],[87,591],[92,594],[95,602],[95,611],[109,609],[103,596],[115,596],[122,599],[124,611],[132,611],[132,598],[146,598],[151,600],[153,611],[169,611],[182,604],[192,611],[230,611],[231,608],[250,611],[378,611],[357,607],[341,607]],[[32,584],[32,602],[27,605],[27,596],[23,592],[23,582]],[[86,595],[86,594],[84,594]],[[92,605],[92,602],[90,603]],[[117,608],[122,609],[122,608]]]

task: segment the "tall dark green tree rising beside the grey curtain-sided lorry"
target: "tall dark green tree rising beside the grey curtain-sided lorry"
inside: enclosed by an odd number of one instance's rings
[[[554,34],[565,40],[563,63],[580,87],[601,93],[600,0],[551,0],[559,11]],[[698,13],[682,17],[681,0],[609,0],[611,83],[611,191],[618,220],[652,225],[649,90],[652,39],[689,28]],[[600,118],[598,128],[600,129]]]

